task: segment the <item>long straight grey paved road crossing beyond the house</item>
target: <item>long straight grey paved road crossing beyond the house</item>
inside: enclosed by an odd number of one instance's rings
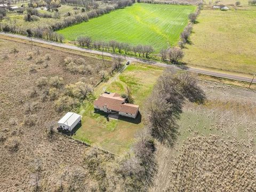
[[[25,40],[28,40],[28,41],[31,40],[29,37],[21,36],[21,35],[7,34],[7,33],[0,33],[0,34],[5,35],[5,36],[9,36],[9,37],[25,39]],[[52,45],[52,46],[63,47],[63,48],[67,48],[67,49],[73,49],[73,50],[77,50],[77,51],[83,51],[83,52],[87,52],[87,53],[94,53],[94,54],[100,54],[100,55],[103,54],[103,55],[109,56],[109,57],[116,56],[116,54],[113,54],[113,53],[107,53],[107,52],[102,53],[101,51],[89,50],[89,49],[85,49],[85,48],[82,48],[82,47],[77,47],[77,46],[74,46],[74,45],[67,45],[67,44],[61,44],[61,43],[56,43],[56,42],[50,42],[50,41],[46,41],[46,40],[38,39],[38,38],[33,38],[33,42],[43,43],[43,44]],[[210,71],[210,70],[196,69],[196,68],[187,67],[187,66],[184,66],[183,68],[180,68],[176,65],[168,65],[168,64],[165,64],[165,63],[161,63],[161,62],[149,61],[149,60],[146,60],[146,59],[138,59],[138,58],[129,57],[129,56],[125,56],[125,55],[119,55],[119,56],[122,57],[123,59],[126,59],[126,60],[147,63],[147,64],[155,65],[155,66],[172,67],[172,68],[178,69],[178,70],[187,70],[187,71],[191,71],[191,72],[198,73],[198,74],[210,75],[210,76],[214,76],[214,77],[222,77],[222,78],[228,78],[228,79],[234,79],[234,80],[244,81],[244,82],[251,82],[252,81],[252,77],[249,78],[249,77],[230,75],[230,74],[225,74],[225,73],[218,73],[218,72],[213,72],[213,71]],[[256,77],[254,78],[253,83],[256,83]]]

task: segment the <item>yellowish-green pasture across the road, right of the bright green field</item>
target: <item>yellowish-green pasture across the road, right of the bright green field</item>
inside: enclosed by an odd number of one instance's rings
[[[243,8],[243,7],[242,7]],[[241,8],[241,9],[242,9]],[[256,7],[202,10],[183,61],[244,73],[256,71]]]

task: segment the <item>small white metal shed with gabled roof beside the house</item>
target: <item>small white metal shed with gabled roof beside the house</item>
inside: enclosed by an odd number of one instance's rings
[[[68,112],[58,121],[58,127],[62,130],[72,131],[78,123],[81,123],[81,115]]]

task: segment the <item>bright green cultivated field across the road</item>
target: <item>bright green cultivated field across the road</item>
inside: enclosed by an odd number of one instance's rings
[[[188,14],[196,6],[156,5],[135,3],[125,9],[113,11],[62,30],[68,40],[86,35],[93,40],[126,42],[133,45],[152,45],[156,51],[176,45],[180,33],[188,24]]]

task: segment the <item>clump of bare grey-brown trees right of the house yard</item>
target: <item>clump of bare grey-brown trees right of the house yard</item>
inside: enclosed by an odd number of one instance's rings
[[[205,93],[191,73],[176,73],[167,68],[158,78],[147,100],[146,126],[153,138],[173,146],[178,135],[178,119],[185,101],[203,103]]]

